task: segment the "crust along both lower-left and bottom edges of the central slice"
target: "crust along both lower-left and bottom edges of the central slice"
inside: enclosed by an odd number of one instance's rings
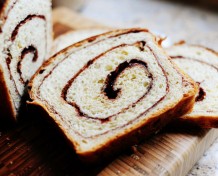
[[[193,92],[190,92],[189,94],[183,97],[179,104],[177,104],[175,107],[172,107],[165,113],[156,117],[149,118],[147,122],[141,125],[139,128],[134,129],[130,133],[126,133],[122,136],[115,137],[113,140],[105,143],[104,146],[102,146],[98,150],[78,153],[79,158],[81,161],[88,164],[102,162],[102,158],[111,159],[117,156],[120,151],[126,149],[128,146],[138,144],[142,140],[148,138],[151,134],[158,132],[161,128],[166,126],[173,119],[190,112],[194,106],[194,102],[195,94],[193,94]],[[51,121],[54,120],[52,115],[49,115],[49,112],[45,106],[40,105],[36,102],[28,102],[28,104],[37,106],[43,112],[46,118],[50,119]],[[59,126],[58,122],[55,122],[53,124],[57,126],[58,129],[60,129],[64,137],[67,139],[67,142],[75,150],[75,144],[73,145],[70,136],[68,136],[68,133],[65,131],[65,129]]]

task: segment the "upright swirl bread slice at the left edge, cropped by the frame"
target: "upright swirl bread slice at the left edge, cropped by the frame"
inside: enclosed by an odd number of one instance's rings
[[[51,0],[5,0],[0,9],[0,116],[16,119],[25,86],[51,49]]]

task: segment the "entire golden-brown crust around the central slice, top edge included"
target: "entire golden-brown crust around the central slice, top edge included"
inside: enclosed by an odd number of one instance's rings
[[[147,30],[142,30],[142,29],[132,29],[132,30],[117,30],[115,31],[115,34],[119,32],[132,32],[132,31],[146,31]],[[100,36],[105,36],[108,34],[113,34],[114,32],[110,33],[105,33]],[[40,70],[46,69],[46,67],[54,62],[56,60],[56,57],[58,55],[61,55],[62,53],[67,52],[69,49],[77,48],[80,46],[85,45],[86,43],[89,43],[90,41],[94,41],[98,36],[91,37],[89,39],[83,40],[79,43],[76,43],[67,49],[57,53],[54,57],[49,59],[46,63],[43,64],[43,66],[37,71],[37,73],[33,76],[33,78],[30,81],[29,84],[29,94],[30,98],[32,100],[35,100],[33,102],[29,102],[29,104],[32,104],[34,106],[39,106],[44,112],[46,112],[47,116],[49,116],[50,119],[54,119],[51,112],[47,109],[46,105],[40,104],[40,102],[37,101],[37,98],[34,98],[34,93],[31,90],[32,83],[35,79],[35,77],[39,74]],[[176,67],[176,66],[175,66]],[[177,67],[176,67],[177,68]],[[182,75],[183,76],[183,75]],[[189,80],[188,76],[187,80]],[[108,158],[111,157],[111,155],[116,155],[119,151],[122,149],[126,148],[129,145],[136,144],[141,141],[141,139],[144,139],[148,136],[150,136],[152,133],[157,132],[160,130],[163,126],[165,126],[167,123],[169,123],[173,118],[176,118],[175,116],[179,117],[181,115],[184,115],[185,113],[189,112],[193,105],[194,105],[194,100],[195,100],[195,94],[197,93],[197,87],[195,83],[190,80],[193,86],[193,89],[190,90],[187,94],[184,95],[184,97],[178,102],[177,105],[168,105],[168,107],[161,112],[158,112],[158,114],[153,115],[150,117],[147,121],[142,122],[141,124],[138,124],[137,126],[133,127],[132,129],[126,130],[124,133],[117,135],[110,141],[106,142],[102,146],[97,146],[96,148],[90,149],[88,152],[80,152],[77,150],[76,152],[79,154],[79,157],[81,160],[84,162],[92,163],[92,162],[97,162],[101,158]],[[65,137],[68,139],[69,143],[73,145],[74,149],[76,150],[77,144],[75,141],[71,139],[70,134],[64,129],[58,121],[55,122],[57,126],[59,126],[59,129],[61,129],[62,133],[65,135]]]

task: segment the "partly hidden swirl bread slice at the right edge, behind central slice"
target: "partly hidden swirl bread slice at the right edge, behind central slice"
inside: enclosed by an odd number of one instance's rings
[[[167,50],[173,61],[199,85],[192,112],[182,117],[204,128],[218,127],[218,53],[201,46],[175,45]]]

